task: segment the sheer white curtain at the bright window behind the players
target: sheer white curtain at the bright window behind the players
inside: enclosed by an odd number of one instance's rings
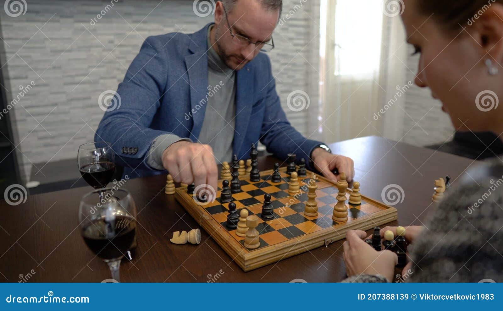
[[[325,141],[368,135],[400,139],[402,110],[380,110],[390,99],[403,107],[404,96],[395,92],[406,83],[406,44],[399,16],[384,15],[381,6],[378,0],[321,1],[325,33],[318,120]]]

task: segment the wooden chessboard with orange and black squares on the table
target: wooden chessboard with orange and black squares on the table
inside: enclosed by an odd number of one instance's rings
[[[300,193],[288,192],[290,176],[286,168],[280,168],[282,180],[271,181],[273,170],[262,171],[261,180],[251,182],[241,177],[240,193],[232,194],[237,209],[246,208],[249,215],[257,215],[260,235],[260,247],[248,250],[243,246],[244,238],[236,235],[236,230],[225,226],[229,203],[220,203],[222,180],[218,181],[216,200],[199,203],[194,194],[187,193],[187,187],[176,189],[175,197],[187,212],[206,232],[222,247],[225,252],[244,271],[253,270],[267,264],[306,252],[322,245],[341,240],[348,230],[368,230],[394,221],[398,218],[396,209],[370,199],[362,193],[360,205],[349,204],[348,221],[339,223],[332,220],[333,205],[337,203],[338,189],[334,183],[316,176],[316,201],[318,216],[304,216],[304,202],[307,201],[307,183],[309,177],[299,177]],[[311,176],[311,172],[307,171]],[[264,194],[271,194],[274,206],[274,219],[264,221],[260,218]],[[348,189],[347,197],[351,190]]]

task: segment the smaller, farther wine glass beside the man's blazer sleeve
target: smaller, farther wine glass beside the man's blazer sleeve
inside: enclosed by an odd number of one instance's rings
[[[115,171],[115,154],[110,143],[93,142],[78,147],[78,169],[82,178],[95,189],[105,188]],[[103,198],[103,195],[100,194]]]

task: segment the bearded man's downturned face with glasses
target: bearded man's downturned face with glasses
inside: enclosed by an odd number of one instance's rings
[[[271,43],[271,38],[279,18],[279,10],[265,9],[258,0],[238,0],[232,10],[217,3],[215,11],[215,41],[220,58],[227,67],[240,70],[259,54],[261,46],[249,44],[247,40],[231,35],[249,38],[251,42]],[[230,31],[229,31],[230,25]]]

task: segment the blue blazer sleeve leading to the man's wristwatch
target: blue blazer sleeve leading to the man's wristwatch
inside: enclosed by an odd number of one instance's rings
[[[265,113],[260,141],[267,147],[268,152],[280,159],[285,160],[289,153],[295,153],[298,164],[300,159],[304,158],[307,167],[312,170],[313,168],[309,165],[311,151],[322,143],[305,138],[288,122],[281,107],[280,97],[276,92],[276,80],[272,73],[271,61],[269,57],[266,59],[268,66],[266,81],[270,82],[266,86]]]

